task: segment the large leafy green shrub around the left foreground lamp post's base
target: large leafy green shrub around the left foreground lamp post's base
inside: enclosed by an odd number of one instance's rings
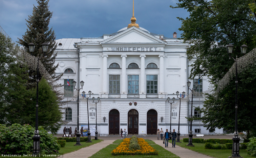
[[[1,154],[31,154],[34,130],[30,125],[12,124],[10,127],[0,124],[0,151]],[[38,127],[40,148],[42,154],[57,153],[60,145],[56,137],[47,133],[41,126]]]

